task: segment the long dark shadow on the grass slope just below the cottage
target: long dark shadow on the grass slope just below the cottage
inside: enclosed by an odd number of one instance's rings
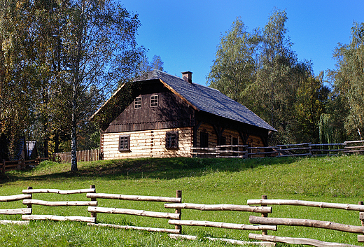
[[[42,162],[31,171],[13,171],[0,174],[0,183],[9,181],[43,181],[62,178],[92,179],[174,179],[203,176],[209,171],[238,172],[260,166],[290,164],[300,158],[254,158],[254,159],[215,159],[215,158],[146,158],[125,160],[100,160],[79,162],[78,171],[69,171],[70,164]]]

